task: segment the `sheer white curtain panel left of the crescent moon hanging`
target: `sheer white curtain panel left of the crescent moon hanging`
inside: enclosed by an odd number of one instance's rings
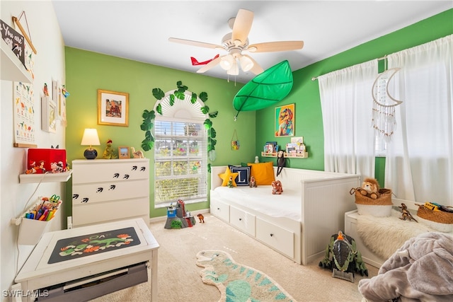
[[[372,86],[377,60],[318,77],[324,127],[324,170],[374,178]]]

